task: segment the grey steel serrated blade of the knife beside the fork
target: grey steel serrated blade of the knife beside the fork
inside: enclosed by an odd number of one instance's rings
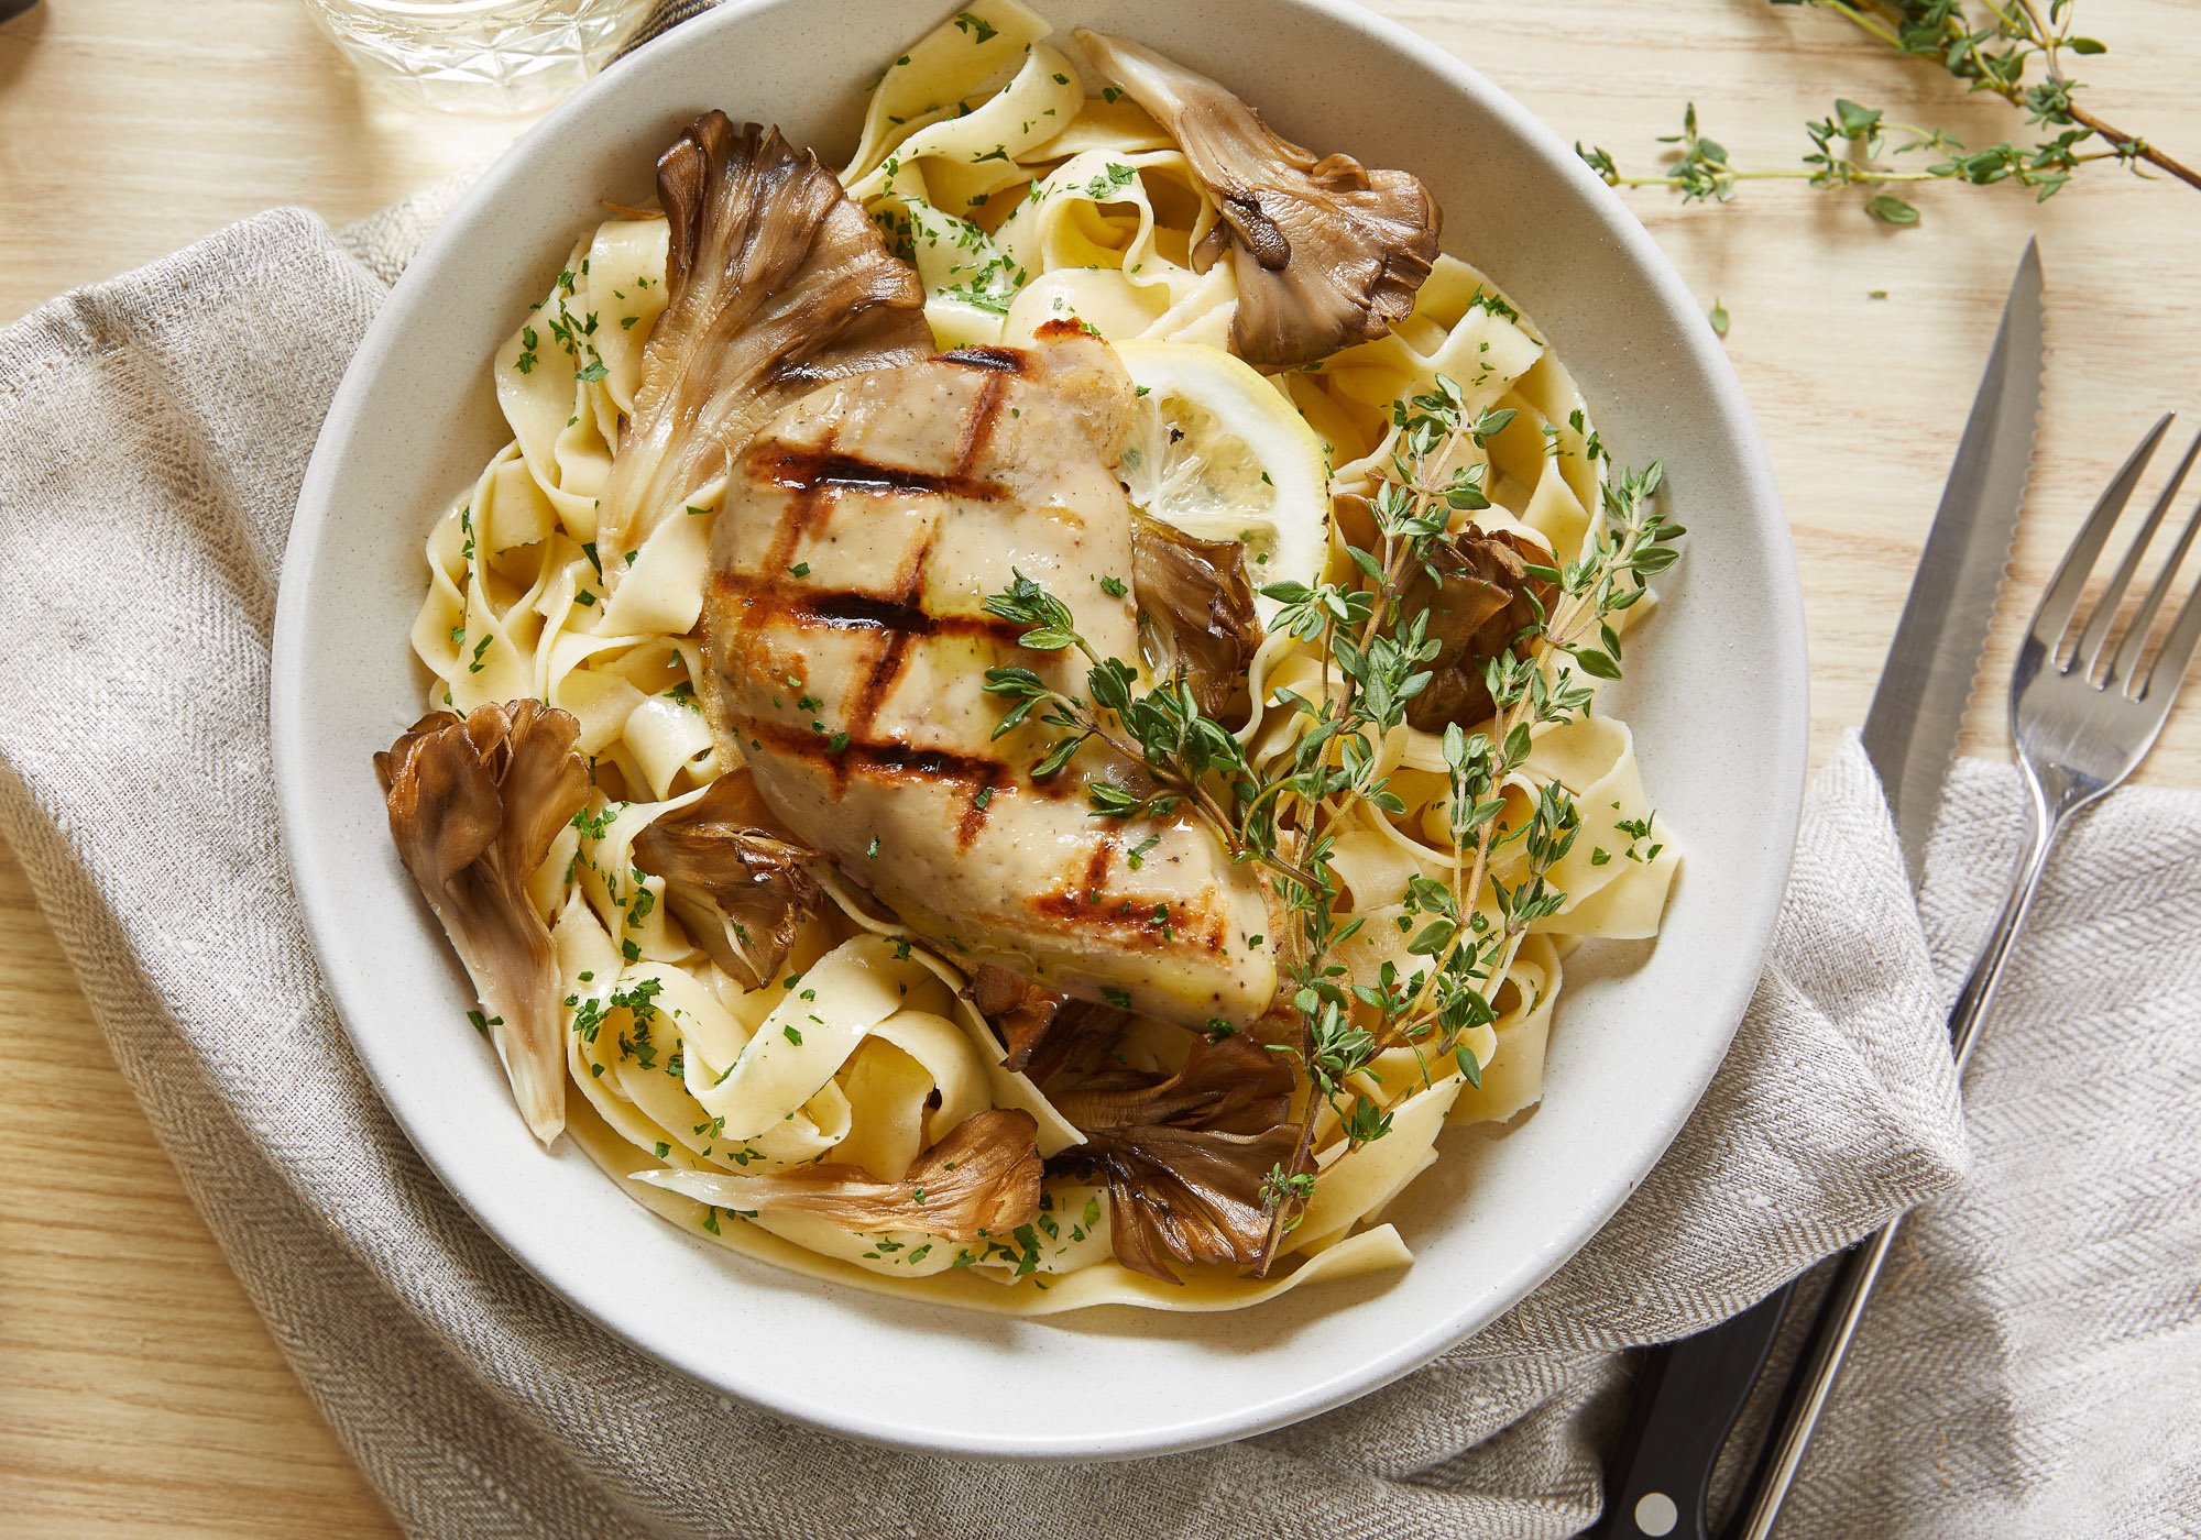
[[[1979,678],[1979,656],[2018,535],[2045,354],[2040,249],[2027,240],[1972,418],[1963,425],[1957,462],[1910,576],[1895,642],[1880,669],[1880,689],[1864,715],[1864,757],[1888,794],[1913,889],[1924,876],[1926,836],[1957,759],[1963,706]]]

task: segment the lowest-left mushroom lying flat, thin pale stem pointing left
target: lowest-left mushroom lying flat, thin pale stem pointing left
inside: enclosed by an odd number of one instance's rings
[[[1039,1124],[1032,1113],[993,1109],[964,1118],[918,1155],[900,1181],[861,1166],[790,1166],[755,1177],[715,1170],[638,1170],[671,1192],[755,1214],[817,1214],[845,1230],[922,1230],[949,1241],[1008,1234],[1039,1214]]]

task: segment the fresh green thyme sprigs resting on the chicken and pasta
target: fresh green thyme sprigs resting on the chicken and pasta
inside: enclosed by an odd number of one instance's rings
[[[1338,948],[1367,917],[1340,911],[1345,887],[1332,856],[1360,805],[1380,814],[1406,812],[1382,770],[1382,741],[1404,724],[1406,702],[1428,686],[1439,653],[1428,609],[1409,614],[1404,596],[1422,572],[1442,583],[1435,543],[1453,539],[1455,524],[1490,506],[1481,451],[1512,418],[1512,409],[1470,414],[1448,376],[1395,403],[1389,466],[1369,497],[1373,548],[1347,546],[1354,570],[1340,583],[1263,590],[1281,605],[1274,627],[1314,649],[1323,664],[1318,700],[1279,689],[1270,702],[1299,717],[1288,752],[1250,757],[1237,735],[1200,711],[1182,675],[1142,691],[1131,664],[1103,658],[1076,631],[1070,607],[1021,572],[986,601],[990,614],[1028,627],[1019,638],[1023,647],[1078,649],[1089,664],[1085,695],[1061,691],[1017,664],[986,673],[986,689],[1010,702],[995,737],[1026,722],[1056,730],[1032,763],[1034,779],[1061,774],[1098,739],[1142,766],[1151,790],[1089,777],[1085,792],[1094,816],[1167,816],[1184,807],[1211,825],[1237,860],[1268,869],[1288,922],[1279,935],[1279,1001],[1296,1025],[1296,1043],[1272,1043],[1272,1049],[1296,1056],[1307,1093],[1294,1159],[1279,1162],[1263,1181],[1270,1214],[1263,1274],[1314,1190],[1310,1151],[1323,1109],[1338,1118],[1354,1146],[1389,1133],[1391,1113],[1365,1093],[1362,1080],[1378,1054],[1415,1049],[1424,1082],[1433,1080],[1431,1063],[1457,1065],[1466,1080],[1481,1080],[1466,1034],[1499,1019],[1497,986],[1527,928],[1567,904],[1550,873],[1583,825],[1572,794],[1558,783],[1543,783],[1527,816],[1508,823],[1503,785],[1527,763],[1538,728],[1585,713],[1591,680],[1620,678],[1616,618],[1675,561],[1675,539],[1684,535],[1653,508],[1662,480],[1653,464],[1607,477],[1578,559],[1565,568],[1527,568],[1550,585],[1552,605],[1536,603],[1536,620],[1486,664],[1494,702],[1490,728],[1468,733],[1453,724],[1444,733],[1450,873],[1446,882],[1417,876],[1404,895],[1413,931],[1406,955],[1424,961],[1404,977],[1395,964],[1384,964],[1376,979],[1349,977]],[[1585,453],[1605,455],[1596,436],[1587,438]],[[1510,847],[1519,847],[1523,860],[1505,882],[1492,862]]]

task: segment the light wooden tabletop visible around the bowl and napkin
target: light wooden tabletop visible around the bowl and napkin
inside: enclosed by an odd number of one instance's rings
[[[1803,121],[1838,95],[1974,145],[2023,132],[2012,108],[1882,57],[1840,20],[1761,0],[1376,9],[1627,167],[1655,163],[1684,101],[1737,165],[1794,165]],[[2095,110],[2201,158],[2201,7],[2080,9],[2111,46],[2082,59]],[[275,202],[359,218],[484,163],[519,128],[363,95],[297,0],[48,0],[0,26],[0,321]],[[2089,167],[2043,207],[2016,187],[1932,185],[1915,196],[1915,229],[1866,218],[1858,194],[1789,183],[1748,185],[1726,209],[1660,189],[1629,198],[1701,301],[1732,317],[1728,352],[1796,530],[1816,759],[1864,713],[2012,266],[2025,235],[2040,235],[2049,385],[1985,671],[2007,678],[2032,594],[2109,473],[2155,414],[2201,409],[2201,191],[2115,167]],[[2005,752],[1999,689],[1974,700],[1968,748]],[[2172,717],[2144,774],[2201,785],[2201,708]],[[396,1533],[247,1305],[57,964],[22,869],[0,851],[9,1531]]]

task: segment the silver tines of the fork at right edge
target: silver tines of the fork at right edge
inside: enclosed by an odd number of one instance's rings
[[[2161,444],[2164,433],[2170,431],[2170,418],[2172,414],[2164,414],[2148,436],[2139,440],[2139,447],[2124,462],[2124,469],[2117,471],[2109,491],[2102,493],[2102,502],[2095,504],[2084,528],[2078,532],[2078,539],[2071,541],[2071,550],[2056,568],[2056,576],[2049,579],[2049,587],[2040,598],[2040,614],[2034,616],[2029,638],[2038,642],[2040,651],[2054,662],[2058,673],[2080,673],[2098,689],[2115,689],[2131,700],[2148,700],[2161,691],[2157,700],[2164,704],[2168,704],[2168,697],[2177,693],[2179,682],[2186,678],[2186,664],[2192,662],[2194,642],[2201,640],[2201,581],[2188,590],[2186,603],[2179,605],[2177,620],[2170,623],[2170,634],[2164,638],[2164,645],[2155,651],[2153,660],[2148,660],[2148,667],[2142,669],[2139,662],[2148,642],[2148,631],[2155,627],[2155,618],[2161,612],[2164,601],[2170,598],[2170,585],[2179,576],[2186,552],[2192,550],[2194,535],[2201,532],[2201,504],[2197,504],[2192,515],[2188,515],[2177,543],[2172,543],[2170,554],[2164,559],[2164,565],[2155,576],[2155,585],[2148,590],[2148,596],[2139,601],[2139,609],[2133,618],[2124,625],[2115,653],[2109,653],[2109,638],[2117,625],[2117,609],[2124,605],[2126,590],[2131,590],[2133,576],[2139,572],[2139,563],[2148,552],[2148,543],[2155,539],[2164,517],[2170,513],[2170,506],[2179,495],[2179,486],[2186,482],[2186,473],[2192,469],[2194,460],[2201,458],[2201,438],[2194,438],[2192,447],[2188,447],[2186,455],[2179,460],[2177,471],[2170,473],[2170,482],[2155,499],[2155,506],[2148,508],[2148,517],[2142,519],[2139,530],[2133,535],[2133,543],[2124,550],[2124,559],[2117,563],[2117,570],[2095,598],[2093,614],[2087,618],[2078,638],[2069,640],[2069,636],[2087,579],[2093,574],[2093,568],[2102,557],[2102,548],[2109,543],[2111,530],[2124,515],[2124,506],[2131,502],[2133,488],[2139,484],[2148,460],[2155,455],[2155,447]],[[2104,653],[2109,653],[2106,660]]]

